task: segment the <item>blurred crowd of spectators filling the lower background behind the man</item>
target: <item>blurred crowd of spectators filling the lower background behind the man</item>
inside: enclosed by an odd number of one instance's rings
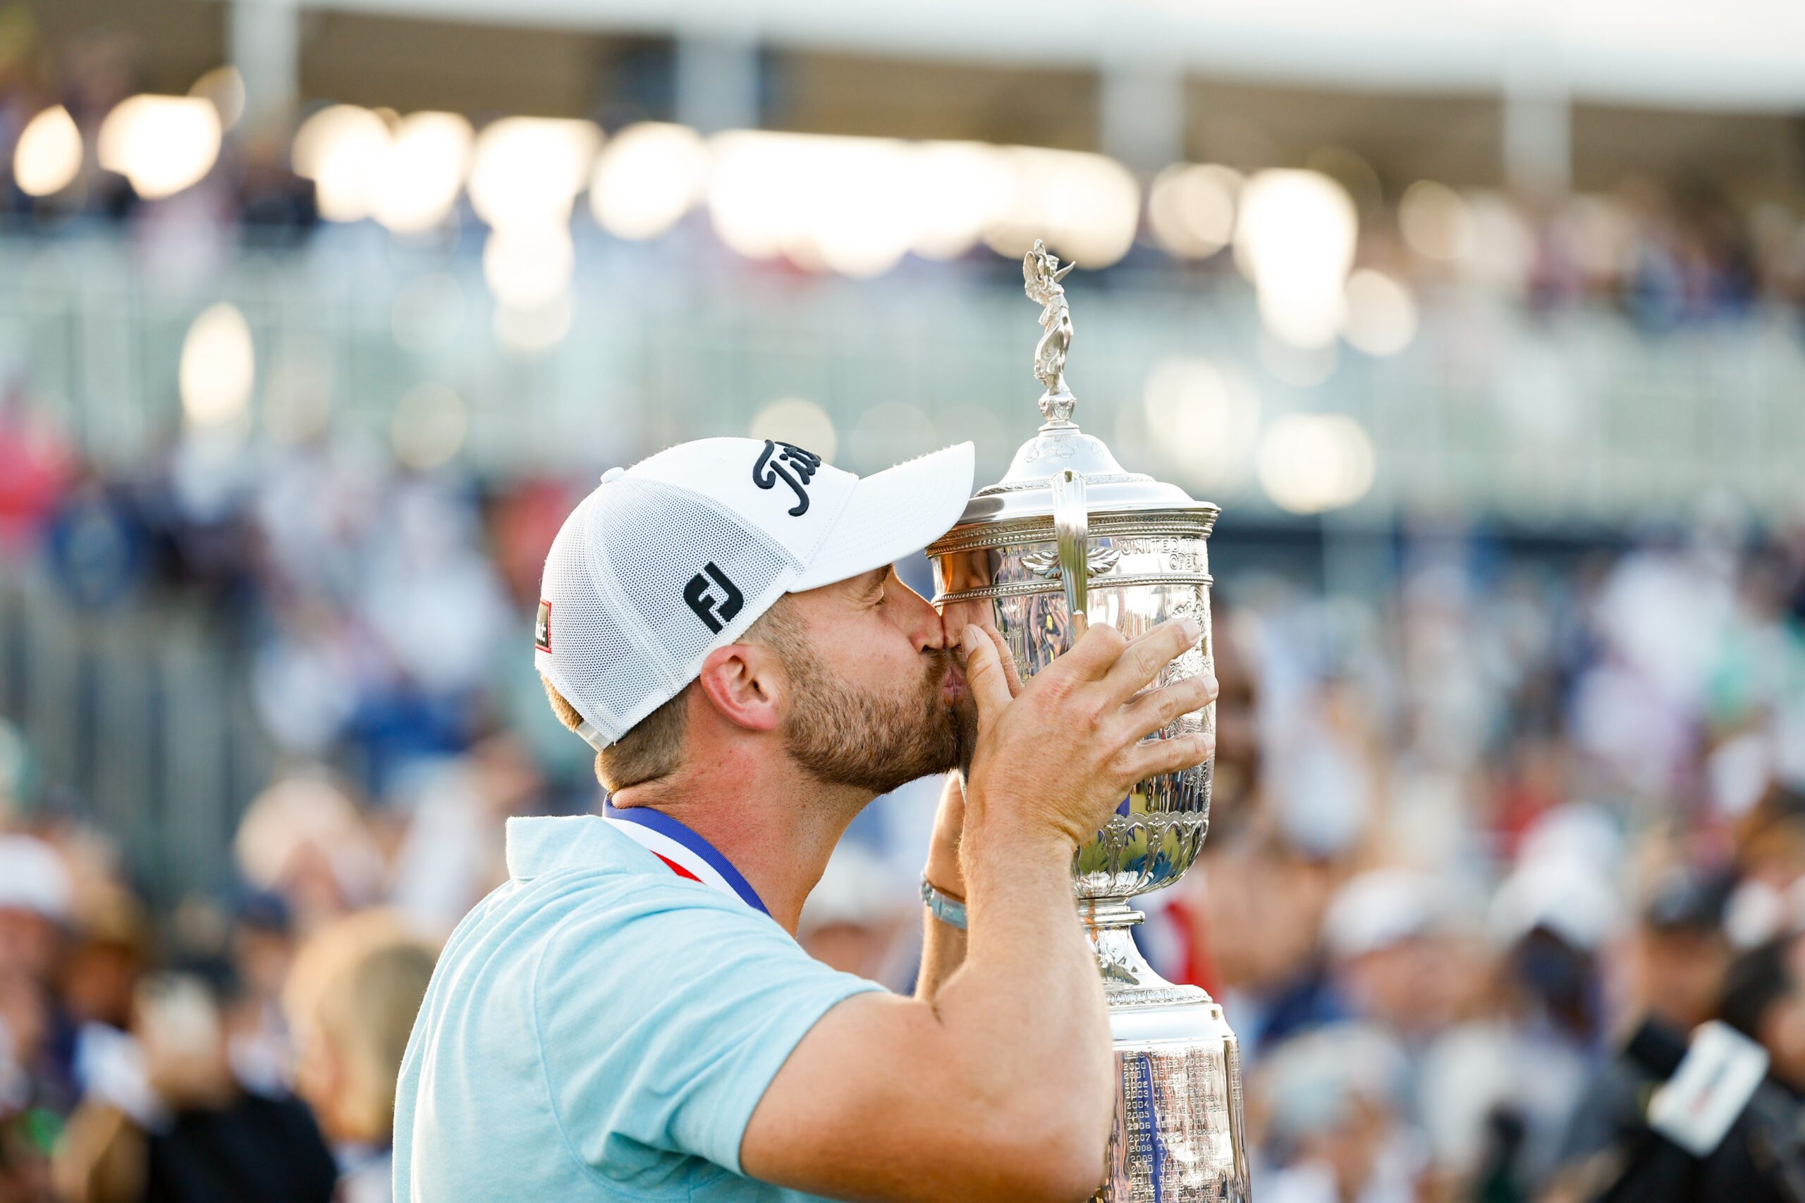
[[[231,882],[152,913],[0,739],[0,1199],[381,1198],[431,949],[507,815],[597,801],[523,651],[579,485],[323,440],[108,474],[34,429],[0,420],[0,565],[217,615],[280,756]],[[1722,1019],[1805,1097],[1805,530],[1726,500],[1615,545],[1397,548],[1365,597],[1218,566],[1215,828],[1143,900],[1148,956],[1240,1035],[1260,1198],[1787,1198],[1735,1133],[1652,1136],[1621,1050]],[[816,956],[910,987],[937,792],[854,826]]]

